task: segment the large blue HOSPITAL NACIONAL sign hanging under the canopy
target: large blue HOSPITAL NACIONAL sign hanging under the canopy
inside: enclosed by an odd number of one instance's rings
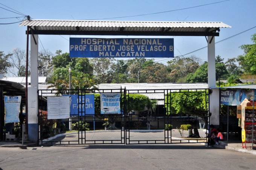
[[[70,57],[174,57],[173,38],[69,38]]]

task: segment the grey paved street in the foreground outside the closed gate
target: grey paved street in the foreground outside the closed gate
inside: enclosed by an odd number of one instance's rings
[[[199,144],[0,147],[3,170],[239,170],[255,169],[255,161],[256,155]]]

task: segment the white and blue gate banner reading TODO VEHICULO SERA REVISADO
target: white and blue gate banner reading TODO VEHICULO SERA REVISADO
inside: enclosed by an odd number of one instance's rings
[[[101,93],[101,114],[121,114],[120,93]]]

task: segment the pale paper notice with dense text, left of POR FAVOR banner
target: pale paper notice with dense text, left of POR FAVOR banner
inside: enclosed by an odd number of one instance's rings
[[[70,116],[69,96],[47,98],[47,119],[63,119]]]

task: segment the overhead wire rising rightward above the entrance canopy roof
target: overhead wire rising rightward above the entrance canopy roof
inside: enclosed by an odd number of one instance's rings
[[[174,9],[174,10],[170,10],[170,11],[154,12],[154,13],[149,13],[149,14],[130,15],[130,16],[111,17],[111,18],[86,19],[86,20],[106,20],[106,19],[116,19],[116,18],[128,18],[128,17],[139,17],[139,16],[145,16],[145,15],[154,15],[154,14],[161,14],[161,13],[166,13],[166,12],[181,11],[181,10],[184,10],[184,9],[197,8],[197,7],[201,7],[201,6],[207,6],[207,5],[212,5],[212,4],[226,2],[226,1],[229,1],[229,0],[224,0],[224,1],[214,2],[214,3],[208,3],[208,4],[204,4],[204,5],[198,5],[198,6],[192,6],[192,7],[188,7],[188,8]]]

